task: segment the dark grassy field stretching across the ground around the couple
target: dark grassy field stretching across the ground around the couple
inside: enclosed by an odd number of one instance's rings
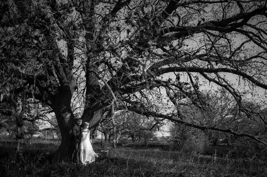
[[[60,140],[0,141],[0,176],[267,176],[267,163],[237,155],[226,146],[208,146],[206,154],[175,151],[171,145],[142,143],[102,149],[96,162],[84,165],[53,163]],[[101,150],[109,150],[101,152]],[[17,152],[18,151],[18,152]],[[17,153],[16,153],[17,152]]]

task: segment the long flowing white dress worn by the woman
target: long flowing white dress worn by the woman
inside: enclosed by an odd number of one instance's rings
[[[82,130],[80,156],[83,165],[95,161],[96,157],[98,157],[98,155],[93,150],[92,144],[90,143],[90,131],[88,129]]]

